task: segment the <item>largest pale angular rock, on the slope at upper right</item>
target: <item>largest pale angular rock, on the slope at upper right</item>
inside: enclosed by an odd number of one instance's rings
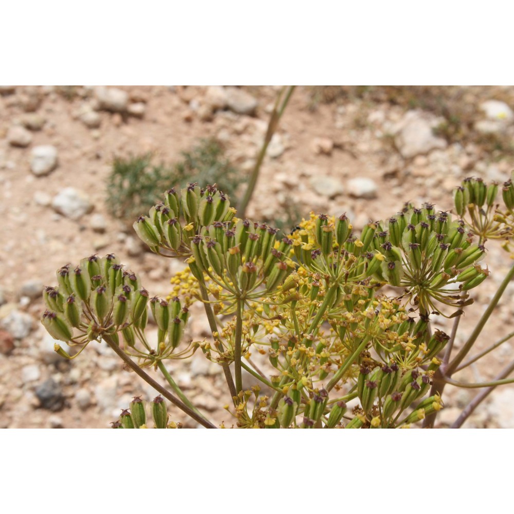
[[[434,149],[444,149],[446,140],[434,136],[432,129],[441,120],[420,111],[409,111],[396,126],[395,144],[405,158],[426,154]]]

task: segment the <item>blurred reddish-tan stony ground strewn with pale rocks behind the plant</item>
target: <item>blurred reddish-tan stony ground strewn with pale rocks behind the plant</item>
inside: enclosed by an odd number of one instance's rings
[[[71,362],[55,354],[40,323],[42,288],[56,283],[63,264],[114,252],[141,274],[151,295],[166,296],[181,263],[145,252],[126,224],[107,213],[114,157],[153,152],[157,160],[174,162],[200,138],[215,137],[249,174],[278,89],[0,86],[0,427],[106,428],[132,396],[155,396],[103,345],[91,344]],[[514,167],[514,88],[452,89],[450,100],[468,116],[455,130],[444,109],[400,101],[401,91],[394,99],[380,89],[370,95],[330,91],[296,89],[269,145],[250,217],[273,219],[294,203],[304,216],[310,210],[346,212],[360,228],[393,215],[408,200],[449,210],[463,178],[503,182]],[[493,243],[486,262],[490,280],[461,322],[457,346],[510,264]],[[511,331],[513,291],[507,289],[479,348]],[[436,323],[449,331],[446,320]],[[209,333],[199,307],[191,330],[195,338]],[[512,354],[507,342],[458,379],[491,378]],[[173,361],[170,371],[195,405],[230,426],[216,365],[197,354],[187,364]],[[474,394],[446,392],[439,426],[451,423]],[[514,427],[513,400],[514,387],[498,388],[465,427]]]

